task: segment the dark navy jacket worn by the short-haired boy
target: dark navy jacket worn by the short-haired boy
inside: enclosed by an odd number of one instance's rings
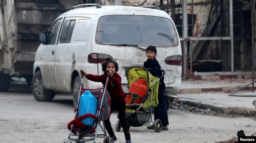
[[[159,78],[162,75],[162,70],[160,70],[162,68],[156,58],[147,59],[146,62],[144,62],[143,67],[146,69],[150,68],[148,69],[149,73],[151,73],[154,77]],[[161,84],[159,84],[159,88],[165,88],[164,77],[161,78],[160,81]]]

